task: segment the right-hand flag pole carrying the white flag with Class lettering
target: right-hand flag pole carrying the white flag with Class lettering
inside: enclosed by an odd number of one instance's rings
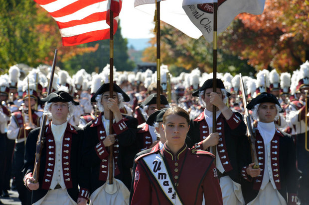
[[[217,10],[218,3],[213,3],[213,80],[212,91],[217,92]],[[217,132],[217,116],[216,106],[212,106],[212,133]],[[216,145],[212,146],[212,153],[216,155]],[[215,162],[215,161],[214,161]],[[215,163],[216,164],[216,163]]]

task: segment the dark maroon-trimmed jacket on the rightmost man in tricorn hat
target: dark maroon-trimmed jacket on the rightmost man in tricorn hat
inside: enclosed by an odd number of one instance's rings
[[[249,142],[247,143],[247,146],[243,146],[243,149],[247,150],[246,156],[249,156],[250,158],[248,163],[251,163],[252,160],[250,155]],[[242,192],[246,203],[249,203],[258,195],[262,185],[265,169],[265,145],[264,140],[258,130],[256,130],[255,149],[261,168],[261,174],[255,178],[251,178],[246,173],[247,166],[243,167],[241,170]],[[295,144],[292,137],[286,133],[280,132],[276,128],[275,135],[271,140],[270,151],[272,164],[271,167],[276,188],[289,205],[296,205],[298,172],[296,169]]]

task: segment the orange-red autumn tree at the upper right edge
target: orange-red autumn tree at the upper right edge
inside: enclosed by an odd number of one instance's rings
[[[309,60],[308,11],[308,0],[266,0],[263,14],[238,15],[220,36],[224,52],[256,69],[293,71]]]

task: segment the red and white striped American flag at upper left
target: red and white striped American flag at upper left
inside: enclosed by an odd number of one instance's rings
[[[63,46],[110,38],[109,8],[114,12],[114,33],[122,0],[34,0],[57,22]]]

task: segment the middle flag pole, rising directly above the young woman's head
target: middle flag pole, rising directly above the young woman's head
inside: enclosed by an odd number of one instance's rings
[[[154,20],[154,32],[156,32],[156,109],[160,110],[160,1],[157,0],[155,0]]]

